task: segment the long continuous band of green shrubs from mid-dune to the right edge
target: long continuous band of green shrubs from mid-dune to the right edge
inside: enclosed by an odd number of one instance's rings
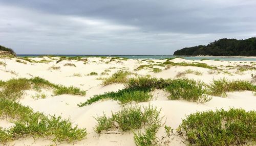
[[[214,80],[211,84],[207,85],[186,78],[164,80],[150,77],[138,77],[131,78],[124,84],[126,88],[122,90],[94,95],[86,102],[78,104],[78,106],[91,105],[103,99],[117,100],[120,104],[146,102],[151,100],[149,92],[154,89],[163,89],[169,92],[169,100],[186,100],[201,103],[210,101],[212,99],[211,95],[223,96],[226,92],[231,91],[256,90],[256,86],[248,81],[228,81],[225,79]]]

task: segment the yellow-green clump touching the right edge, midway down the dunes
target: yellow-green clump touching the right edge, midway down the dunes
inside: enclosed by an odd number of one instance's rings
[[[256,91],[256,86],[249,81],[233,80],[228,81],[226,79],[214,80],[209,85],[211,94],[215,96],[225,96],[225,92],[250,90]]]

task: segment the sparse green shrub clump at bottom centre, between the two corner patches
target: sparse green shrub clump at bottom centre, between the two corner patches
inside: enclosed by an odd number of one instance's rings
[[[156,145],[158,138],[157,131],[162,126],[163,117],[160,116],[160,111],[156,107],[149,105],[148,107],[141,106],[123,107],[121,111],[112,112],[111,117],[106,117],[105,114],[100,117],[95,117],[97,126],[94,130],[97,133],[108,130],[131,131],[145,128],[145,133],[135,133],[134,141],[136,145]]]

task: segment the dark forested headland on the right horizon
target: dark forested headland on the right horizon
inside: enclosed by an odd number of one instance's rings
[[[223,38],[208,45],[182,48],[174,55],[256,56],[256,37],[245,40]]]

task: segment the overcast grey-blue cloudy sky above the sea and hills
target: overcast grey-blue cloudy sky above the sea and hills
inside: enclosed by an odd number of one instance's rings
[[[255,0],[0,0],[0,45],[17,54],[173,55],[256,36]]]

